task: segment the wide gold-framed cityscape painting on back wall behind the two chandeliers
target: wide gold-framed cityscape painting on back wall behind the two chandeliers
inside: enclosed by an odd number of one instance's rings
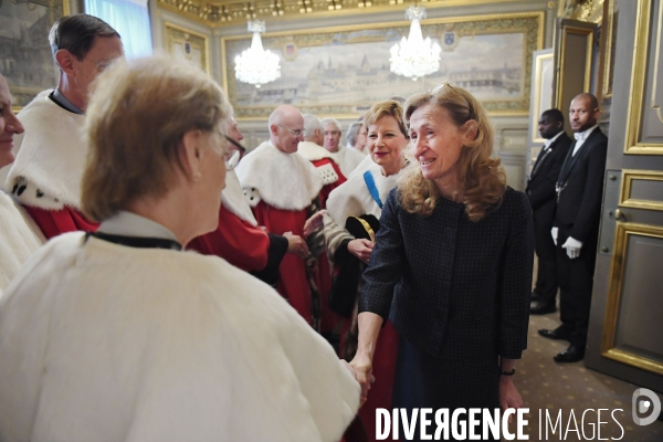
[[[393,95],[408,97],[443,82],[474,94],[492,115],[527,115],[532,53],[543,46],[544,13],[423,20],[423,36],[442,48],[440,69],[412,81],[389,70],[390,49],[410,23],[367,23],[265,33],[265,49],[281,59],[281,78],[256,88],[235,80],[234,59],[251,35],[221,39],[223,85],[235,115],[266,118],[290,103],[303,113],[356,117]]]

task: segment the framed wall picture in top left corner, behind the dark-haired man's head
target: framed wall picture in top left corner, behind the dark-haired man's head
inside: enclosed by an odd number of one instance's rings
[[[49,31],[69,14],[70,0],[0,0],[0,74],[9,84],[14,112],[57,86]]]

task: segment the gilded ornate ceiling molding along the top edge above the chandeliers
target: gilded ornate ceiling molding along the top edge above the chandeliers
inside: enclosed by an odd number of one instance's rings
[[[425,7],[462,7],[523,2],[524,0],[420,0]],[[339,17],[362,12],[403,10],[406,0],[157,0],[159,8],[198,21],[211,28],[221,28],[254,19],[297,19]],[[602,4],[602,0],[601,0]]]

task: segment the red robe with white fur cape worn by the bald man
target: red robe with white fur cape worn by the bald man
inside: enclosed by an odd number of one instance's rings
[[[323,188],[323,180],[309,161],[266,141],[242,159],[236,173],[259,224],[280,235],[303,234],[312,201]],[[278,275],[278,293],[311,324],[311,287],[304,260],[286,254]]]

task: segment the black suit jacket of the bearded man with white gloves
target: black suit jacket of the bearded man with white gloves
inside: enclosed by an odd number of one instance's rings
[[[566,187],[559,193],[555,225],[586,243],[596,241],[599,233],[608,137],[597,127],[572,157],[575,145],[558,178]]]

